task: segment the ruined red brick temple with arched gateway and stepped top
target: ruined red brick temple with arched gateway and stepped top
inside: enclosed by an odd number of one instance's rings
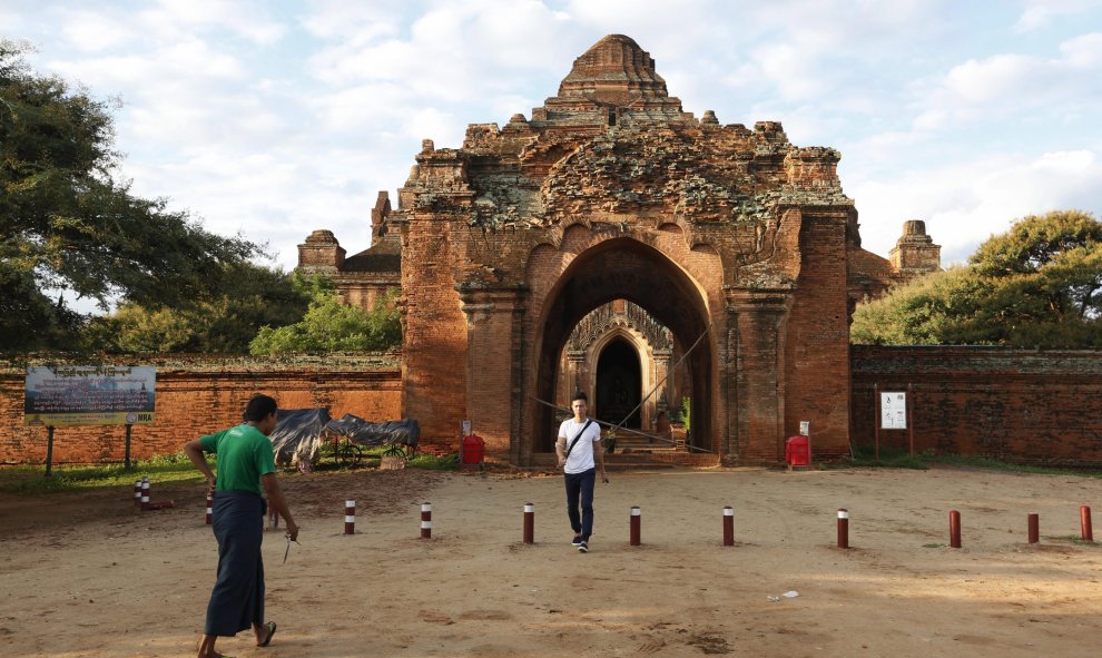
[[[491,454],[551,462],[572,391],[652,431],[691,401],[689,448],[777,463],[808,421],[816,459],[848,453],[849,315],[936,269],[909,220],[889,258],[860,246],[840,155],[777,121],[697,118],[620,35],[574,60],[531,117],[424,140],[371,247],[299,245],[346,303],[401,288],[402,411],[454,448],[470,420]]]

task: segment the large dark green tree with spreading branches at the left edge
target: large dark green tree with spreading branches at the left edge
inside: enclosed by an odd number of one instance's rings
[[[260,253],[203,229],[165,199],[118,176],[114,105],[30,70],[26,49],[0,41],[0,341],[8,350],[72,346],[81,316],[201,297],[210,273]]]

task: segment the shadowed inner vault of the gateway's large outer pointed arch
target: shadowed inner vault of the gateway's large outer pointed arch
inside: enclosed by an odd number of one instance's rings
[[[573,233],[573,232],[570,232]],[[580,237],[580,236],[579,236]],[[563,240],[565,245],[568,242]],[[682,243],[683,245],[683,243]],[[579,245],[580,246],[580,245]],[[685,354],[712,324],[709,293],[678,259],[630,235],[593,235],[586,248],[577,254],[560,252],[552,257],[543,249],[540,263],[529,271],[532,296],[529,318],[534,350],[531,391],[537,400],[554,396],[559,357],[573,326],[592,310],[617,298],[637,304],[669,327],[677,351]],[[535,254],[533,254],[535,255]],[[560,259],[561,258],[561,259]],[[558,261],[558,276],[547,272]],[[680,259],[681,263],[685,259]],[[718,263],[717,263],[718,264]],[[718,294],[718,292],[716,292]],[[688,369],[693,391],[693,429],[698,446],[719,451],[722,441],[715,436],[720,423],[718,412],[718,345],[711,336],[700,341],[689,354]],[[529,406],[525,423],[531,432],[525,441],[531,453],[521,455],[530,461],[532,453],[550,452],[554,441],[555,414],[544,405]]]

